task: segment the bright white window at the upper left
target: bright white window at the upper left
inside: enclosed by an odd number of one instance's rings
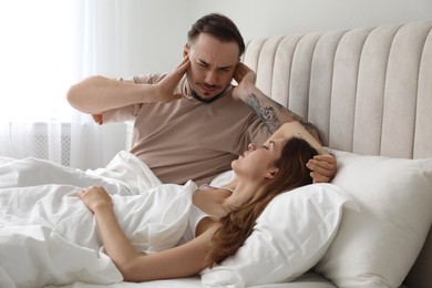
[[[71,0],[0,3],[0,120],[69,121],[76,78],[76,9]]]

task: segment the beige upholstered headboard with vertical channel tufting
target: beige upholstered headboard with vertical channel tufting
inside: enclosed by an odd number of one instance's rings
[[[432,21],[254,39],[257,85],[315,123],[323,143],[392,157],[432,157]],[[432,235],[405,279],[432,287]]]

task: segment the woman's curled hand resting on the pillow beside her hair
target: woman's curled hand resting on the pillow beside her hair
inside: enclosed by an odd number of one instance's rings
[[[317,155],[306,166],[312,171],[313,183],[329,183],[338,169],[336,157],[330,154]]]

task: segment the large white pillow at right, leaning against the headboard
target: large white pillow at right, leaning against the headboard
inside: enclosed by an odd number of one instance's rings
[[[402,160],[335,152],[332,183],[356,198],[315,267],[338,287],[399,287],[432,223],[432,158]]]

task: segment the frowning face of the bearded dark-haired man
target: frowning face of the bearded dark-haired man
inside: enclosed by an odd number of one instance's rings
[[[191,45],[184,52],[191,60],[188,93],[209,102],[230,85],[239,62],[239,48],[236,42],[220,42],[208,33],[200,33]]]

